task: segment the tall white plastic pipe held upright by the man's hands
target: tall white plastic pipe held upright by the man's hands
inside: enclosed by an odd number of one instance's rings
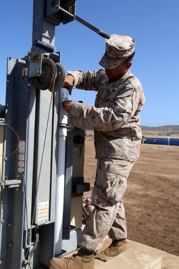
[[[62,252],[62,226],[63,226],[63,202],[64,202],[64,184],[65,184],[65,144],[68,122],[68,116],[62,106],[62,102],[68,99],[68,90],[60,89],[60,109],[59,109],[59,139],[58,139],[58,164],[57,164],[57,182],[56,182],[56,213],[55,213],[55,255]],[[58,256],[59,258],[62,255]]]

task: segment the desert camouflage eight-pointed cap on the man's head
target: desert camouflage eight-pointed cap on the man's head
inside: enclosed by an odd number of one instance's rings
[[[106,50],[99,64],[113,69],[124,62],[134,52],[135,39],[130,36],[112,34],[106,39]]]

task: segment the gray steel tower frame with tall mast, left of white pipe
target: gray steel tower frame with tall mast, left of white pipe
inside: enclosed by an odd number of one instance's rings
[[[55,23],[45,14],[46,1],[34,1],[31,52],[7,62],[0,224],[4,269],[26,268],[31,250],[31,268],[54,256],[59,92],[39,90],[30,78],[38,71],[31,59],[42,53],[60,62],[60,53],[34,47],[35,40],[55,45]]]

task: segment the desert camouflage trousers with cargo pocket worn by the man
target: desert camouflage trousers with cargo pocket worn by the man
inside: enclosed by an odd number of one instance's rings
[[[96,180],[91,196],[94,210],[78,239],[78,246],[84,250],[99,253],[106,235],[117,240],[127,238],[122,197],[134,163],[115,158],[97,160]]]

